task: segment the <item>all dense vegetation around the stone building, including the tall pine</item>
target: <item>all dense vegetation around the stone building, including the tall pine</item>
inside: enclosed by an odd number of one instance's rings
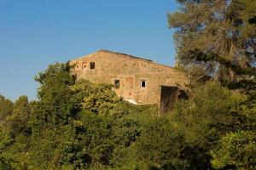
[[[255,1],[178,2],[189,99],[159,116],[49,65],[38,100],[0,96],[0,169],[255,169]]]

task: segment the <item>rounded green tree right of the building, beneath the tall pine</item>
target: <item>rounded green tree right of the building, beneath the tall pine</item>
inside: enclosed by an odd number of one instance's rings
[[[253,129],[250,116],[241,110],[246,96],[223,88],[218,82],[207,82],[194,88],[188,100],[177,103],[172,122],[184,133],[187,148],[184,156],[191,167],[212,168],[211,150],[227,133]]]

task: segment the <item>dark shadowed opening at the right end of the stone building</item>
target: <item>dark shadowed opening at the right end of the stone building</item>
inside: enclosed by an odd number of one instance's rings
[[[177,86],[161,86],[160,113],[172,111],[177,99],[188,99],[188,96]]]

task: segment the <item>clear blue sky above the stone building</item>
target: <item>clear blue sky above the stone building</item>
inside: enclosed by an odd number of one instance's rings
[[[0,0],[0,94],[37,98],[49,64],[108,49],[174,65],[175,0]]]

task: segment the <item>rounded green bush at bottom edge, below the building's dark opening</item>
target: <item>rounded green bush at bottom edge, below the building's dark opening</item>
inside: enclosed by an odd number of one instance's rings
[[[131,145],[134,167],[139,169],[185,169],[183,134],[166,117],[154,116],[143,124],[141,137]],[[141,128],[142,128],[141,127]]]

